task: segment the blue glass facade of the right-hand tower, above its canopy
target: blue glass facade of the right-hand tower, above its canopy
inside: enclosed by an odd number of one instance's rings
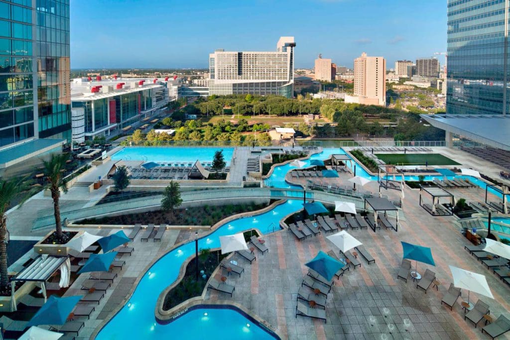
[[[505,0],[448,0],[447,114],[510,111],[507,13]]]

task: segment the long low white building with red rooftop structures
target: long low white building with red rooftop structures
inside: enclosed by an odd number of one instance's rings
[[[117,128],[149,120],[164,110],[177,80],[74,79],[71,84],[72,140],[108,136]],[[170,86],[167,87],[167,85]]]

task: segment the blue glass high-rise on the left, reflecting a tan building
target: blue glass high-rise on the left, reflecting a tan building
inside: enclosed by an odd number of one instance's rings
[[[0,1],[0,19],[3,171],[71,139],[69,0]]]

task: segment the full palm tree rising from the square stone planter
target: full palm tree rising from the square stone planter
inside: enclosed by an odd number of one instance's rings
[[[64,171],[66,161],[69,159],[69,155],[67,153],[62,154],[53,154],[52,158],[48,161],[43,161],[44,166],[44,174],[47,178],[47,184],[45,185],[46,189],[49,189],[52,192],[53,198],[53,210],[55,214],[55,226],[57,233],[57,240],[62,242],[63,240],[62,234],[62,222],[60,220],[60,191],[64,194],[67,193],[67,180],[64,178]]]

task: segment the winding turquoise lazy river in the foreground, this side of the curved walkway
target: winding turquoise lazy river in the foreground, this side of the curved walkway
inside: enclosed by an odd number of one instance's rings
[[[216,231],[198,241],[198,248],[220,247],[219,237],[256,227],[262,233],[272,232],[279,229],[279,220],[288,214],[299,211],[302,208],[300,200],[288,200],[276,206],[273,210],[264,214],[241,218],[221,225]],[[247,327],[250,321],[237,311],[225,312],[223,319],[209,319],[207,337],[200,337],[199,328],[203,321],[204,309],[197,309],[197,312],[189,312],[167,325],[158,324],[154,317],[154,310],[158,296],[167,286],[172,284],[179,275],[179,269],[185,259],[195,254],[195,242],[184,244],[165,256],[160,258],[142,277],[132,297],[122,309],[100,330],[98,340],[116,339],[272,339],[273,336],[267,332],[258,332],[256,327]],[[242,261],[242,266],[249,266]],[[235,293],[234,293],[235,294]],[[219,310],[212,313],[216,316]],[[237,315],[236,315],[237,314]],[[198,316],[197,316],[198,315]],[[219,315],[219,314],[218,314]],[[213,317],[213,315],[211,315]],[[213,322],[214,320],[221,320]],[[210,322],[209,322],[210,321]],[[199,327],[198,327],[199,326]],[[186,330],[186,333],[184,332]],[[176,334],[184,334],[178,337]]]

